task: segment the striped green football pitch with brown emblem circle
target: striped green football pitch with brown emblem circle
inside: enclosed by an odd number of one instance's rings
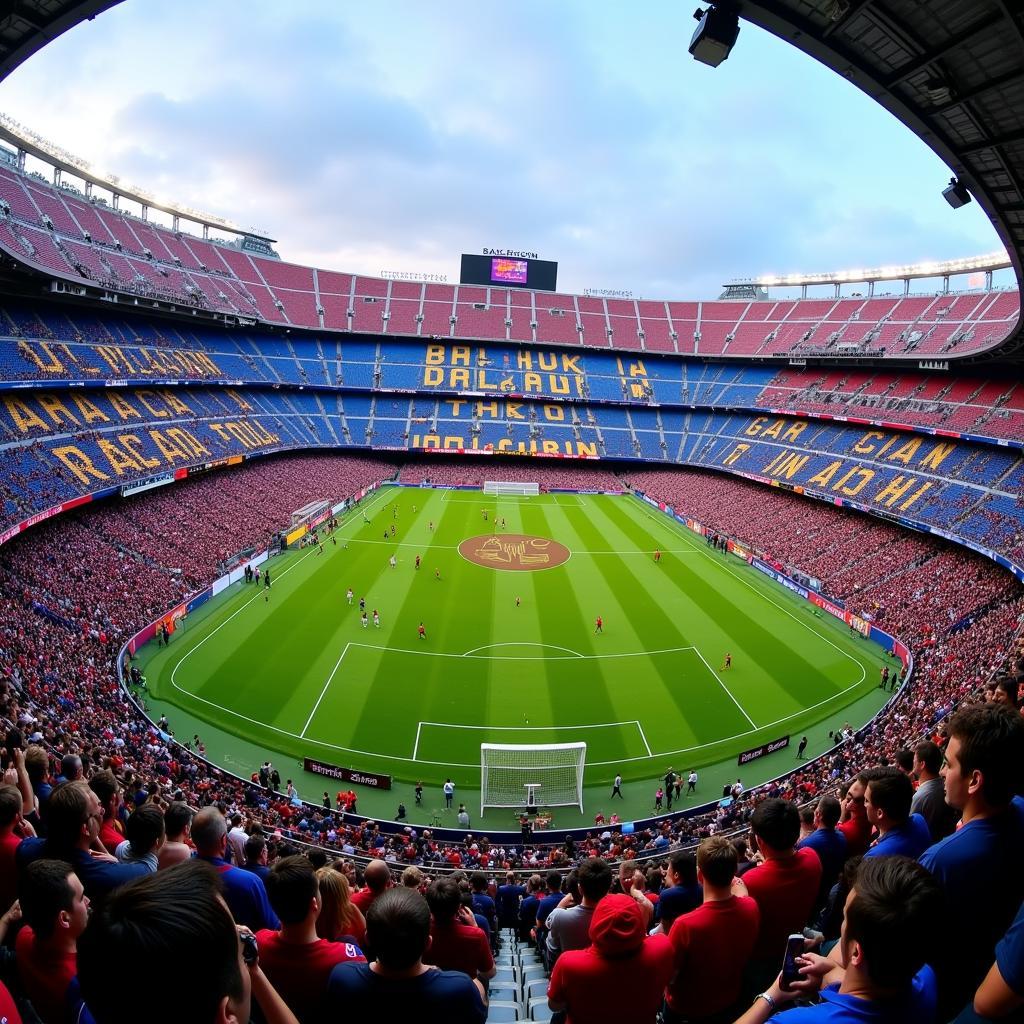
[[[504,542],[518,535],[542,542]],[[364,813],[392,816],[399,799],[412,811],[413,782],[436,793],[449,776],[479,810],[481,743],[582,740],[586,813],[559,823],[609,812],[616,772],[636,783],[623,812],[640,816],[655,784],[639,780],[695,768],[713,799],[737,773],[751,784],[794,767],[804,733],[821,753],[828,730],[885,699],[879,647],[632,496],[385,486],[335,537],[266,563],[268,599],[237,584],[141,658],[154,717],[179,739],[202,733],[240,774],[265,757],[301,774],[310,757],[394,775],[369,804],[360,791]],[[788,751],[737,772],[738,752],[784,734]],[[307,776],[300,792],[324,785],[338,788]],[[500,827],[509,812],[492,815]]]

